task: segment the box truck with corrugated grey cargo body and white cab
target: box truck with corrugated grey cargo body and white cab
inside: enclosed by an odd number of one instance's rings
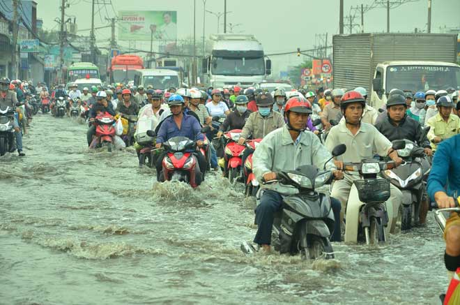
[[[340,34],[332,47],[334,87],[364,87],[373,107],[386,104],[394,88],[460,89],[457,34]]]

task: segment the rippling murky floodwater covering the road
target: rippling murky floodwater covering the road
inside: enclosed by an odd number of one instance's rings
[[[157,184],[134,150],[88,151],[86,126],[38,114],[27,156],[0,158],[0,304],[440,304],[444,242],[427,228],[337,260],[257,253],[254,202],[220,174]]]

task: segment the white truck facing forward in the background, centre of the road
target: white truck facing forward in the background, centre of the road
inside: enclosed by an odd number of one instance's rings
[[[213,34],[213,49],[204,58],[202,70],[211,86],[247,88],[271,74],[271,61],[265,60],[263,47],[254,35]]]

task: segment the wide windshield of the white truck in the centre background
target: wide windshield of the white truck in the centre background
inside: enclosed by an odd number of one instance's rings
[[[213,57],[214,75],[265,75],[263,57]]]

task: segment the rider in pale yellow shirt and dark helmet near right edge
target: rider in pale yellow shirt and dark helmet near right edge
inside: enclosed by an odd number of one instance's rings
[[[454,103],[449,96],[441,96],[436,103],[438,114],[428,120],[430,126],[428,140],[431,141],[431,148],[436,151],[436,145],[442,140],[446,140],[460,131],[460,118],[452,114]]]

